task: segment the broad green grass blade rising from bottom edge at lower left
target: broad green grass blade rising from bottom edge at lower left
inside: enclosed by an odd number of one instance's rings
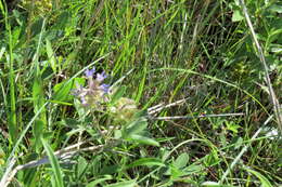
[[[63,183],[63,176],[62,176],[62,171],[61,171],[60,165],[59,165],[59,161],[57,161],[53,150],[49,146],[49,144],[43,138],[41,138],[41,142],[43,144],[43,147],[44,147],[46,152],[48,155],[48,158],[50,160],[52,171],[54,173],[54,178],[55,178],[55,185],[54,186],[55,187],[63,187],[64,183]]]

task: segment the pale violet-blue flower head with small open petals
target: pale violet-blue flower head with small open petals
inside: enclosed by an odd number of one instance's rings
[[[79,98],[82,106],[99,109],[102,103],[108,102],[107,93],[110,85],[103,83],[107,76],[105,71],[95,74],[94,67],[93,69],[87,69],[85,76],[87,78],[87,86],[77,85],[73,94]]]

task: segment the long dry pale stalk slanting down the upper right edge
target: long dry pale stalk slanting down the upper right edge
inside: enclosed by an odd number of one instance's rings
[[[261,64],[264,65],[264,69],[265,69],[265,74],[266,74],[266,81],[267,81],[267,86],[268,86],[268,91],[269,91],[269,94],[270,94],[270,99],[271,99],[271,103],[273,105],[273,111],[274,111],[274,115],[275,115],[275,118],[277,118],[277,122],[278,122],[278,126],[280,129],[280,134],[282,134],[282,112],[281,112],[281,108],[280,108],[280,104],[278,102],[278,98],[275,96],[275,93],[273,91],[273,88],[271,85],[271,81],[270,81],[270,78],[269,78],[269,75],[268,75],[268,66],[267,66],[267,63],[266,63],[266,58],[265,58],[265,55],[264,55],[264,52],[261,50],[261,46],[257,40],[257,35],[255,32],[255,29],[253,27],[253,24],[251,22],[251,18],[249,18],[249,15],[247,13],[247,8],[245,5],[245,2],[244,0],[240,0],[240,3],[241,3],[241,6],[243,9],[243,13],[244,13],[244,16],[246,18],[246,23],[247,23],[247,26],[251,30],[251,35],[252,35],[252,38],[255,42],[255,45],[256,45],[256,49],[257,49],[257,55],[259,56],[259,59],[261,62]]]

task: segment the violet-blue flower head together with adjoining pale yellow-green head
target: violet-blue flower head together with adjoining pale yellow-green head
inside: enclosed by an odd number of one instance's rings
[[[87,85],[76,85],[73,91],[73,95],[79,99],[79,104],[87,110],[107,111],[111,117],[117,122],[128,122],[134,118],[134,115],[139,111],[138,105],[133,99],[123,97],[117,98],[115,94],[118,93],[118,89],[111,89],[110,85],[103,83],[106,79],[105,71],[97,72],[95,68],[87,69],[85,71],[87,78]],[[113,97],[115,97],[113,99]],[[110,105],[103,105],[103,104]]]

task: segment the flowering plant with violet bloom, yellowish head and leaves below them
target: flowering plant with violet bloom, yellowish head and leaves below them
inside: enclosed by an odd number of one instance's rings
[[[107,115],[107,118],[110,118],[107,121],[112,121],[114,126],[119,126],[119,129],[114,129],[115,138],[153,146],[159,145],[145,131],[148,119],[140,115],[142,112],[138,109],[137,103],[123,96],[125,86],[113,91],[108,84],[103,83],[107,77],[105,71],[95,72],[95,68],[87,69],[85,77],[87,85],[82,86],[77,83],[77,89],[73,90],[77,101],[75,105],[82,109],[84,115],[80,116],[86,117],[89,113],[89,116],[92,116],[91,119],[94,120],[93,123],[98,124],[100,121],[98,118]],[[110,130],[110,126],[99,125],[101,124],[99,123],[97,126],[99,130],[102,128]]]

